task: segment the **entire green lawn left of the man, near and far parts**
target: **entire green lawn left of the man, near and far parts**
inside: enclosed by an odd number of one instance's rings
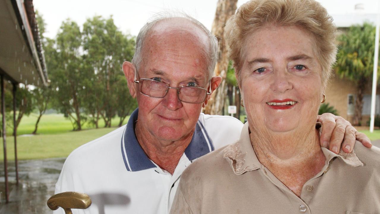
[[[124,123],[128,122],[129,116]],[[72,131],[69,119],[62,114],[46,114],[41,117],[37,135],[29,135],[34,130],[37,120],[36,114],[22,117],[17,128],[17,157],[23,159],[44,159],[52,157],[67,157],[71,151],[84,143],[99,138],[115,130],[119,124],[119,117],[112,119],[112,128],[94,128],[85,124],[82,131]],[[104,127],[103,120],[99,127]],[[14,160],[14,138],[10,136],[12,130],[7,130],[7,159]],[[22,136],[24,135],[24,136]],[[2,144],[3,139],[0,138]],[[3,160],[3,146],[0,146],[0,162]]]

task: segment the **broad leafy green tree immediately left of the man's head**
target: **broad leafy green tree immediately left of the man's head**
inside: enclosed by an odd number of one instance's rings
[[[111,119],[116,113],[121,114],[121,122],[124,114],[129,113],[130,106],[121,105],[130,100],[123,73],[120,68],[124,61],[130,61],[135,49],[134,38],[128,38],[117,29],[112,16],[104,19],[95,16],[87,19],[83,25],[83,56],[87,66],[89,78],[86,82],[87,99],[85,109],[91,117],[91,121],[98,127],[101,117],[105,121],[105,127],[111,127]],[[120,84],[122,81],[122,84]],[[123,91],[120,93],[120,91]],[[123,97],[123,98],[120,98]],[[127,104],[127,103],[125,103]]]

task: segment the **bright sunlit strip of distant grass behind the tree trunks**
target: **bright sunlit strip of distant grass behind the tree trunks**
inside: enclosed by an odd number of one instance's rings
[[[24,116],[21,119],[20,125],[17,127],[17,135],[31,134],[34,130],[35,123],[37,120],[37,114],[30,114],[29,116]],[[123,124],[128,122],[129,116],[124,119]],[[115,117],[111,120],[111,126],[116,127],[119,125],[119,117]],[[99,127],[104,127],[103,119],[99,120]],[[82,129],[95,128],[93,125],[85,123]],[[37,134],[57,134],[71,132],[73,126],[68,118],[63,117],[63,114],[44,114],[41,117],[40,123],[38,124]],[[8,127],[6,130],[8,136],[13,133],[12,128]]]

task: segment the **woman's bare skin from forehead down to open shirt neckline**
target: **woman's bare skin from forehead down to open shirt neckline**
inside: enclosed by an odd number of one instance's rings
[[[324,88],[313,38],[298,27],[267,25],[246,42],[241,88],[250,138],[263,165],[296,195],[317,174],[325,157],[315,130]],[[294,56],[307,59],[292,59]],[[249,66],[254,59],[267,59]],[[261,60],[263,61],[263,60]],[[297,69],[299,66],[302,69]],[[258,69],[263,71],[259,73]],[[289,109],[273,109],[271,100],[297,101]]]

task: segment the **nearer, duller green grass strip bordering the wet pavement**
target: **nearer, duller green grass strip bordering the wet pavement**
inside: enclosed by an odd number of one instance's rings
[[[84,143],[92,141],[106,133],[112,132],[113,128],[89,129],[77,132],[66,132],[60,134],[44,134],[34,136],[17,137],[17,158],[45,159],[53,157],[67,157],[71,151]],[[3,139],[0,138],[0,143]],[[7,159],[14,160],[14,138],[7,137]],[[0,149],[0,161],[3,160],[3,146]]]

